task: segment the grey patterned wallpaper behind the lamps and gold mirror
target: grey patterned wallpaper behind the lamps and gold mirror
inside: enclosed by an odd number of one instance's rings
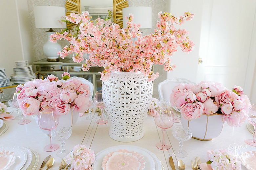
[[[29,19],[30,19],[30,28],[32,32],[32,38],[33,38],[33,50],[32,50],[32,61],[37,61],[39,59],[44,59],[46,56],[44,56],[42,46],[47,41],[47,35],[45,34],[45,31],[48,29],[45,28],[35,28],[35,21],[34,21],[34,12],[33,7],[34,6],[59,6],[59,7],[65,7],[66,0],[27,0],[28,1],[28,9],[29,9]],[[156,22],[158,20],[158,12],[159,11],[165,11],[167,10],[167,1],[168,0],[128,0],[130,7],[135,6],[145,6],[145,7],[152,7],[152,29],[141,29],[144,35],[147,35],[154,31],[156,28]],[[60,31],[59,29],[56,29],[55,31]],[[58,42],[63,47],[68,44],[67,41],[59,41]],[[163,71],[163,67],[156,65],[154,66],[154,72],[159,72],[159,77],[153,82],[154,85],[154,94],[153,96],[158,98],[158,90],[157,86],[159,82],[163,81],[167,77],[167,73]]]

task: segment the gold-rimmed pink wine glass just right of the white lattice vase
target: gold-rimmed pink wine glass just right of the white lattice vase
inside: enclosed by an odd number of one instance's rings
[[[170,144],[166,144],[164,141],[165,129],[168,129],[174,124],[174,114],[170,107],[162,106],[158,109],[158,116],[155,116],[155,123],[158,127],[162,129],[163,139],[162,142],[156,144],[157,148],[161,150],[168,150],[171,148]]]

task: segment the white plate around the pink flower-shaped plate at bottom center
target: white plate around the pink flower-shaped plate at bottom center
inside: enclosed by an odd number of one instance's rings
[[[117,151],[119,149],[126,149],[128,151],[136,151],[139,154],[143,155],[143,159],[145,160],[145,170],[161,170],[161,162],[159,161],[159,159],[157,158],[157,156],[150,152],[149,150],[142,148],[142,147],[138,147],[138,146],[134,146],[134,145],[118,145],[118,146],[112,146],[109,148],[106,148],[100,152],[98,152],[95,156],[95,162],[93,164],[93,169],[94,170],[100,170],[101,165],[102,165],[102,161],[103,158],[109,153],[109,152],[114,152]]]

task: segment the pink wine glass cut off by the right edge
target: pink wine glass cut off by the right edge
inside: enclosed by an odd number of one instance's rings
[[[251,146],[256,146],[256,105],[252,105],[249,110],[248,121],[254,126],[254,134],[252,139],[246,139],[245,143]]]

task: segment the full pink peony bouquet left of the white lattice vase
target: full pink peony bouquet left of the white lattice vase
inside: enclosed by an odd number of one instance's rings
[[[50,75],[44,80],[34,79],[16,87],[20,109],[27,115],[37,114],[41,109],[53,108],[54,114],[61,116],[75,112],[85,112],[90,106],[90,88],[78,79],[69,79],[70,75],[62,74],[65,80]]]

